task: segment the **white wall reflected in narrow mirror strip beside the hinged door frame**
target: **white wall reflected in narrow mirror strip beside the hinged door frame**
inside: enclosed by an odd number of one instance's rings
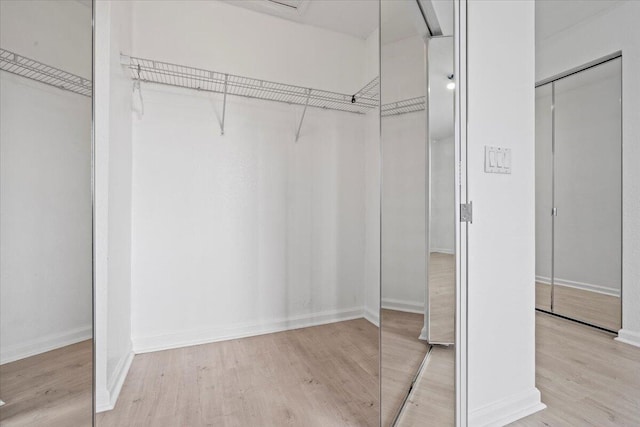
[[[455,253],[454,155],[453,136],[431,141],[431,252]]]

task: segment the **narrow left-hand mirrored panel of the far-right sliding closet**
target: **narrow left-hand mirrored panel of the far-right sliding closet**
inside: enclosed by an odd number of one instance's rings
[[[553,83],[536,88],[536,308],[551,310]]]

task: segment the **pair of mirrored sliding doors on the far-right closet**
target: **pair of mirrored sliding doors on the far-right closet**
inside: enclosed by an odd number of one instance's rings
[[[536,307],[617,332],[622,58],[536,89]]]

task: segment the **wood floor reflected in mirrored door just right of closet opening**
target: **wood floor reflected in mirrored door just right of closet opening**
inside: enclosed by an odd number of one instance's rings
[[[382,425],[389,426],[400,411],[425,355],[420,341],[422,314],[382,310]]]

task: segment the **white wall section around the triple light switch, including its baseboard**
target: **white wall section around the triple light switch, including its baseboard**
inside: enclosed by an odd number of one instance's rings
[[[534,2],[467,4],[469,425],[505,425],[543,407],[535,387]],[[511,148],[510,175],[484,173],[485,145]]]

